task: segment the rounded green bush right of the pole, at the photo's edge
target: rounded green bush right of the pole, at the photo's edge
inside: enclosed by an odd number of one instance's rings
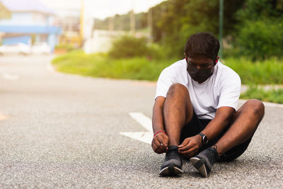
[[[246,21],[239,29],[237,43],[241,54],[253,59],[282,57],[282,21],[268,19]]]

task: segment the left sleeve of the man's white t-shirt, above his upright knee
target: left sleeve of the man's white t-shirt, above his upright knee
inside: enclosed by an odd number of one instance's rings
[[[169,69],[163,69],[156,84],[155,98],[157,98],[158,96],[163,96],[166,98],[167,92],[172,84],[173,78],[172,75],[169,74]]]

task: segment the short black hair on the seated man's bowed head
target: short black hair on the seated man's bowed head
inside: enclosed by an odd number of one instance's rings
[[[213,60],[217,58],[220,44],[212,33],[195,33],[187,40],[185,45],[186,57],[205,55]]]

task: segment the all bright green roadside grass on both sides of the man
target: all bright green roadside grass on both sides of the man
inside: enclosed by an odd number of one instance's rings
[[[69,74],[156,81],[161,71],[177,60],[175,58],[148,59],[146,57],[112,59],[103,53],[86,55],[81,51],[74,51],[56,57],[52,64],[58,71]],[[273,58],[263,62],[252,62],[244,57],[231,57],[222,62],[239,74],[242,84],[250,85],[248,91],[241,94],[241,98],[258,98],[261,101],[283,103],[283,89],[265,91],[255,86],[283,84],[282,59]]]

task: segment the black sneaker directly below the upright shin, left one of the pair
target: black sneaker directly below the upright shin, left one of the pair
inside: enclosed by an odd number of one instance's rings
[[[161,165],[161,171],[159,175],[161,176],[177,176],[182,174],[182,158],[178,152],[178,147],[171,146],[166,152],[166,156],[163,164]]]

